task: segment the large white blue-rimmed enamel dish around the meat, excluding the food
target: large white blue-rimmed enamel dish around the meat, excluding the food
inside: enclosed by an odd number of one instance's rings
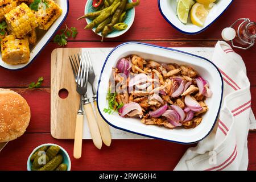
[[[112,68],[117,61],[125,56],[135,54],[144,59],[151,59],[160,63],[176,63],[188,65],[195,69],[200,76],[210,83],[213,96],[205,101],[209,107],[207,113],[203,115],[203,121],[195,129],[167,129],[166,127],[144,125],[139,118],[122,118],[118,113],[108,114],[104,108],[108,108],[106,94],[108,93],[109,78]],[[109,125],[130,133],[143,135],[145,137],[168,140],[170,142],[191,144],[199,142],[212,131],[221,108],[223,94],[223,81],[220,71],[208,59],[193,55],[188,52],[179,51],[172,48],[159,47],[146,43],[129,42],[115,47],[106,57],[103,65],[100,80],[98,81],[97,106],[102,118]]]

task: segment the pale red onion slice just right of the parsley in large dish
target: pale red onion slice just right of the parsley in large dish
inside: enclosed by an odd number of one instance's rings
[[[118,110],[118,113],[121,115],[121,117],[124,117],[126,114],[131,117],[134,115],[139,115],[139,117],[142,117],[143,115],[141,106],[136,102],[123,105],[121,109]]]

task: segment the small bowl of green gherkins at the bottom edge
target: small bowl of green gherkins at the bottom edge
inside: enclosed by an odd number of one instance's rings
[[[68,152],[57,144],[46,143],[36,147],[27,160],[27,171],[70,171]]]

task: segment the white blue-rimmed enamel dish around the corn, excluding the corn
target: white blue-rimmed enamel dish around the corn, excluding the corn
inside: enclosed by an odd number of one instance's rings
[[[62,9],[62,14],[56,21],[52,24],[52,26],[47,30],[44,35],[39,38],[38,42],[36,43],[36,46],[30,50],[30,60],[26,64],[19,64],[19,65],[9,65],[2,61],[2,55],[0,54],[0,67],[18,71],[20,69],[24,69],[28,67],[40,54],[40,52],[43,51],[44,47],[47,46],[47,44],[50,42],[50,40],[53,38],[57,30],[60,28],[60,26],[63,24],[64,20],[67,18],[68,11],[69,11],[69,0],[56,0],[56,3],[60,6]]]

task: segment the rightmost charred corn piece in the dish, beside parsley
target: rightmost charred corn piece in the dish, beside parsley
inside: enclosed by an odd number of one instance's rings
[[[62,13],[59,5],[52,0],[47,0],[48,7],[40,6],[38,11],[35,11],[36,20],[38,21],[39,28],[42,30],[48,30],[53,22]]]

